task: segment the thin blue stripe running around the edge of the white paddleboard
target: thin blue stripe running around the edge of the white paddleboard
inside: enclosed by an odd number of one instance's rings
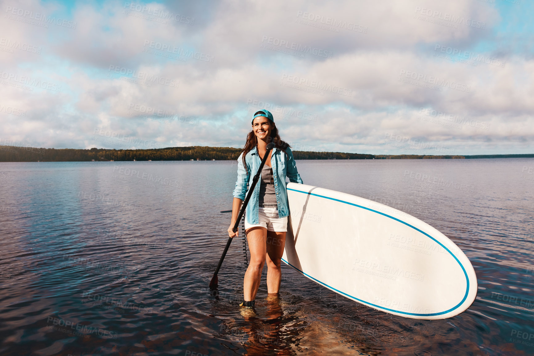
[[[466,272],[466,269],[464,268],[464,266],[461,264],[461,262],[458,260],[458,258],[456,256],[454,256],[454,254],[449,250],[447,249],[447,247],[445,247],[441,242],[437,241],[434,237],[428,235],[427,233],[425,233],[425,231],[422,231],[418,228],[416,228],[415,226],[413,225],[410,225],[409,223],[407,222],[404,222],[402,220],[399,220],[397,218],[394,218],[393,216],[390,216],[388,214],[384,214],[382,212],[379,212],[379,211],[376,211],[376,210],[373,210],[371,208],[368,208],[368,207],[365,207],[365,206],[362,206],[362,205],[358,205],[358,204],[354,204],[354,203],[349,203],[349,202],[345,202],[344,200],[340,200],[340,199],[335,199],[335,198],[331,198],[331,197],[327,197],[327,196],[324,196],[324,195],[319,195],[319,194],[315,194],[315,193],[311,193],[311,192],[307,192],[307,191],[302,191],[302,190],[296,190],[296,189],[291,189],[291,188],[287,188],[287,190],[292,190],[292,191],[296,191],[296,192],[299,192],[299,193],[303,193],[303,194],[307,194],[307,195],[313,195],[313,196],[316,196],[316,197],[319,197],[319,198],[325,198],[325,199],[330,199],[330,200],[335,200],[336,202],[340,202],[340,203],[344,203],[344,204],[348,204],[348,205],[352,205],[352,206],[356,206],[356,207],[359,207],[359,208],[362,208],[362,209],[365,209],[365,210],[368,210],[368,211],[372,211],[374,213],[377,213],[377,214],[381,214],[381,215],[384,215],[384,216],[387,216],[388,218],[390,219],[393,219],[393,220],[396,220],[398,222],[402,222],[404,225],[406,226],[409,226],[411,227],[412,229],[414,230],[417,230],[419,231],[421,234],[424,234],[428,237],[430,237],[431,239],[433,239],[435,242],[437,242],[439,245],[441,245],[447,252],[449,252],[451,254],[452,257],[454,257],[454,259],[458,262],[458,264],[460,265],[460,267],[462,268],[462,270],[464,271],[464,275],[466,277],[466,281],[467,281],[467,288],[466,288],[466,293],[464,295],[464,298],[460,301],[460,303],[458,303],[456,306],[450,308],[449,310],[446,310],[444,312],[440,312],[440,313],[431,313],[431,314],[419,314],[419,313],[406,313],[406,312],[401,312],[401,311],[398,311],[398,310],[395,310],[395,309],[389,309],[389,308],[386,308],[386,307],[382,307],[380,305],[376,305],[376,304],[373,304],[373,303],[370,303],[368,301],[365,301],[365,300],[362,300],[362,299],[359,299],[359,298],[356,298],[356,297],[353,297],[353,296],[350,296],[348,295],[347,293],[344,293],[340,290],[337,290],[333,287],[330,287],[328,284],[326,283],[323,283],[319,280],[317,280],[316,278],[313,278],[312,276],[310,276],[309,274],[307,273],[304,273],[302,270],[300,270],[299,268],[296,268],[295,266],[293,266],[292,264],[290,264],[288,261],[282,259],[282,261],[286,262],[286,264],[288,264],[289,266],[293,267],[294,269],[298,270],[300,273],[302,273],[303,275],[311,278],[312,280],[316,281],[317,283],[320,283],[320,284],[323,284],[325,287],[328,287],[332,290],[335,290],[336,292],[338,293],[341,293],[342,295],[345,295],[349,298],[352,298],[352,299],[355,299],[355,300],[358,300],[358,301],[361,301],[362,303],[365,303],[367,305],[372,305],[374,307],[377,307],[377,308],[380,308],[382,310],[387,310],[387,311],[390,311],[390,312],[395,312],[395,313],[399,313],[399,314],[406,314],[406,315],[414,315],[414,316],[436,316],[436,315],[442,315],[442,314],[446,314],[446,313],[450,313],[452,312],[454,309],[457,309],[458,307],[460,307],[460,305],[462,305],[464,303],[464,301],[467,299],[467,295],[469,293],[469,277],[467,276],[467,272]]]

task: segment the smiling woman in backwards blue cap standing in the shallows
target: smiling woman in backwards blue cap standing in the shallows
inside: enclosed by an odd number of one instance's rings
[[[254,114],[252,131],[248,133],[245,148],[238,158],[238,177],[233,191],[232,222],[228,236],[238,236],[233,232],[235,220],[241,204],[248,193],[247,185],[253,177],[267,151],[267,144],[274,142],[262,169],[260,180],[254,189],[246,208],[245,231],[250,250],[250,263],[245,272],[241,307],[254,307],[254,299],[263,265],[267,261],[267,291],[269,296],[278,296],[280,288],[280,259],[286,244],[287,202],[286,176],[289,181],[301,183],[295,159],[290,146],[280,139],[272,114],[261,110]]]

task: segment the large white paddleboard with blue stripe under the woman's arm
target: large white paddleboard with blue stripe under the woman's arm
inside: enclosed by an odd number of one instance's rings
[[[475,300],[476,275],[427,223],[339,191],[288,183],[282,261],[312,281],[383,312],[446,319]]]

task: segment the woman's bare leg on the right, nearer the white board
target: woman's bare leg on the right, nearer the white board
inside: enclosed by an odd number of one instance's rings
[[[277,295],[280,290],[282,277],[280,262],[285,245],[285,232],[267,231],[265,259],[267,261],[267,292],[269,295]]]

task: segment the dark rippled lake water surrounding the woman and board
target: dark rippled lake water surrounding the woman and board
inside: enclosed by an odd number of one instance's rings
[[[375,311],[282,263],[242,315],[232,161],[0,163],[1,355],[532,355],[534,159],[297,161],[305,184],[375,200],[472,261],[464,313]],[[436,183],[441,182],[441,183]]]

